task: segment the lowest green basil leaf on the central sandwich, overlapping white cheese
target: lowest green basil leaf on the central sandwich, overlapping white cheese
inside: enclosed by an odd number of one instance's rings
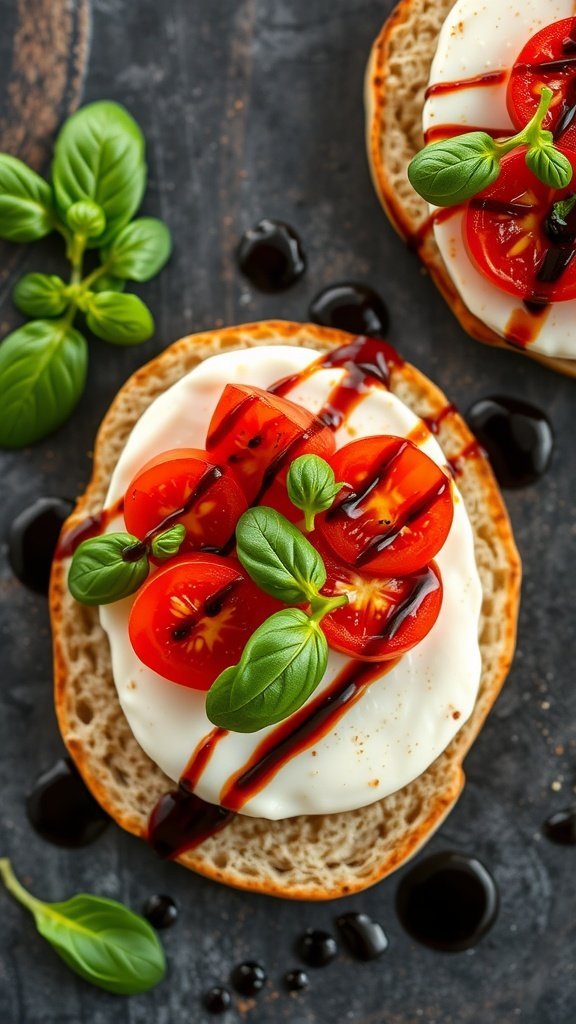
[[[328,659],[324,633],[299,608],[285,608],[252,634],[238,665],[208,690],[206,714],[222,729],[256,732],[288,718],[320,683]]]

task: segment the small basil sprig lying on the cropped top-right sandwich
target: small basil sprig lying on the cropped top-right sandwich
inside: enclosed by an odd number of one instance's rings
[[[556,147],[552,133],[542,128],[552,98],[552,90],[544,87],[532,120],[509,138],[475,131],[424,146],[408,166],[412,187],[427,203],[455,206],[497,179],[502,157],[527,146],[526,164],[532,173],[551,188],[565,188],[572,180],[572,165]]]

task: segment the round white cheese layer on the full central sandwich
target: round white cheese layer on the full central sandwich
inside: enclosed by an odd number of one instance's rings
[[[207,424],[227,383],[265,388],[299,372],[316,357],[310,349],[274,346],[206,359],[160,395],[138,421],[113,474],[107,506],[123,495],[148,459],[179,445],[204,446]],[[290,392],[290,398],[317,412],[342,373],[321,370]],[[337,431],[336,442],[341,446],[377,433],[406,435],[418,423],[397,397],[373,388]],[[445,465],[431,435],[421,447],[439,465]],[[453,525],[437,559],[444,601],[434,629],[390,672],[366,688],[333,732],[283,767],[243,813],[282,818],[363,807],[423,772],[468,718],[481,674],[478,623],[482,591],[471,527],[456,488],[454,495]],[[117,519],[110,528],[122,528],[122,521]],[[212,728],[204,712],[205,695],[168,682],[138,660],[127,636],[131,600],[100,608],[118,696],[138,743],[176,780],[198,742]],[[328,686],[347,660],[330,652],[328,670],[317,692]],[[453,717],[455,712],[459,717]],[[223,784],[269,731],[231,733],[222,739],[196,793],[218,803]]]

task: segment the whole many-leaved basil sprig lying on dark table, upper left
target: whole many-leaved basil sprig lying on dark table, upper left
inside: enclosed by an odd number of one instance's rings
[[[86,379],[86,343],[74,327],[116,345],[154,333],[154,319],[126,281],[148,281],[170,256],[168,228],[154,217],[132,220],[143,196],[145,140],[118,103],[99,101],[77,111],[56,139],[51,184],[20,160],[0,154],[0,238],[34,242],[57,231],[71,264],[68,282],[29,273],[13,300],[33,319],[0,345],[0,446],[40,440],[68,419]],[[87,249],[99,264],[84,274]],[[29,345],[32,339],[33,348]]]

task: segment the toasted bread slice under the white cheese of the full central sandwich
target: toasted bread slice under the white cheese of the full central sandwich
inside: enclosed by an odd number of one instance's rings
[[[182,338],[139,370],[108,412],[95,444],[92,479],[65,529],[101,510],[112,470],[145,409],[209,355],[252,345],[302,345],[318,352],[349,341],[313,325],[264,322]],[[392,371],[392,390],[418,416],[434,416],[446,398],[409,364]],[[440,423],[448,457],[472,441],[457,413]],[[425,842],[462,788],[462,759],[494,702],[511,660],[520,559],[498,486],[486,459],[466,460],[458,485],[470,516],[483,582],[482,682],[469,721],[415,781],[370,807],[281,821],[238,815],[227,828],[178,859],[218,882],[294,899],[331,899],[373,885]],[[173,782],[138,746],[120,709],[107,637],[96,608],[67,589],[68,564],[54,563],[50,609],[55,703],[65,742],[86,783],[116,821],[146,836],[150,811]]]

